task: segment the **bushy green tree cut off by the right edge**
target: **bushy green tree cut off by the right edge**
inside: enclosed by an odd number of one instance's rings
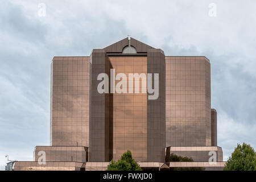
[[[256,153],[250,144],[237,144],[223,168],[224,171],[255,171]]]

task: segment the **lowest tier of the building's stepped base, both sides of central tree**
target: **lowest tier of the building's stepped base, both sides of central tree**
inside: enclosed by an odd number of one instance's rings
[[[197,168],[204,171],[222,171],[226,162],[138,162],[139,166],[145,171],[169,171],[176,168],[188,170],[187,168]],[[15,162],[14,171],[105,171],[109,162]],[[201,168],[201,169],[199,169]]]

